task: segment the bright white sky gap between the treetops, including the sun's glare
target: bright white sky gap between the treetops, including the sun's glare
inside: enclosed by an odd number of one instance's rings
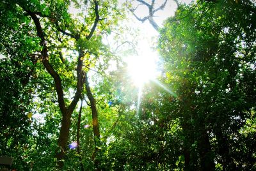
[[[145,0],[148,4],[150,4],[151,0]],[[125,1],[122,0],[120,3],[124,3]],[[181,1],[181,3],[190,3],[191,0]],[[156,0],[155,1],[155,9],[161,6],[164,3],[164,0]],[[136,0],[133,3],[133,6],[136,6],[139,3],[136,3]],[[168,17],[174,15],[177,9],[177,4],[175,1],[168,0],[164,10],[157,11],[154,15],[154,20],[157,22],[159,27],[163,27],[163,21],[166,20]],[[140,5],[136,11],[134,12],[138,17],[143,19],[148,15],[148,8],[145,5]],[[128,69],[130,76],[134,82],[134,85],[140,87],[141,85],[148,82],[150,79],[154,79],[159,75],[159,71],[161,70],[161,66],[157,66],[157,61],[159,61],[159,56],[152,47],[156,47],[154,43],[157,40],[157,31],[154,29],[153,26],[150,25],[148,20],[145,22],[140,22],[129,13],[128,18],[131,20],[132,26],[134,29],[140,30],[140,36],[138,36],[138,55],[134,56],[127,56],[124,61],[128,64]],[[155,38],[155,39],[154,39]]]

